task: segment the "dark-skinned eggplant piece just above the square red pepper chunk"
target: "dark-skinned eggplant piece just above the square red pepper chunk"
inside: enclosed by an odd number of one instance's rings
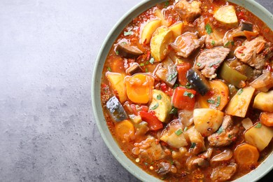
[[[199,92],[202,96],[209,92],[209,82],[204,78],[200,71],[192,68],[188,70],[186,78],[188,83],[193,86],[193,89]]]

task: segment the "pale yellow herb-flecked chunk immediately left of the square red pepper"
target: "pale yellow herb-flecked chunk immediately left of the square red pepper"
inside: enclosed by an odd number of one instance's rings
[[[155,112],[155,116],[161,122],[166,122],[167,116],[169,116],[169,112],[172,110],[171,98],[161,90],[153,90],[152,94],[153,99],[149,109]]]

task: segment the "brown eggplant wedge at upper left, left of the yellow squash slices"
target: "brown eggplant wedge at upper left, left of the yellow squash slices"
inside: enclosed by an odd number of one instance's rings
[[[121,55],[126,58],[138,57],[139,55],[142,55],[144,53],[141,50],[139,50],[137,46],[133,46],[123,42],[118,43],[116,47],[116,52],[118,52],[118,55]]]

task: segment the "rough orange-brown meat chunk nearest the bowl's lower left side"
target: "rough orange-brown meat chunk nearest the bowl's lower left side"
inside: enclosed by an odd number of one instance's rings
[[[148,137],[146,140],[134,144],[134,146],[132,153],[139,155],[139,158],[146,160],[146,162],[165,158],[165,152],[154,137]]]

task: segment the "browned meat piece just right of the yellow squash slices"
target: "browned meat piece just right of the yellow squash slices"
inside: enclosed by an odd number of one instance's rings
[[[176,55],[181,57],[189,57],[190,54],[200,48],[204,43],[204,37],[198,38],[197,33],[186,32],[176,38],[174,43],[171,43]]]

